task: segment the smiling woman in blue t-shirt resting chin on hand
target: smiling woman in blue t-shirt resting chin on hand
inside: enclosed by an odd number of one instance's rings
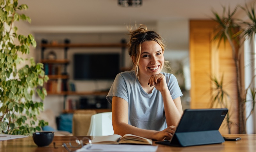
[[[182,107],[177,79],[162,73],[164,44],[145,25],[130,31],[133,70],[119,73],[108,93],[115,134],[165,140],[172,137]]]

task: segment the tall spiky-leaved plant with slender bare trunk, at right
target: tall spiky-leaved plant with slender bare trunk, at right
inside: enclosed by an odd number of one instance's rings
[[[214,18],[212,19],[218,23],[215,31],[216,34],[214,36],[214,40],[219,40],[219,42],[221,42],[222,40],[224,42],[228,41],[232,48],[232,56],[236,67],[236,91],[238,99],[239,134],[246,133],[246,121],[248,119],[248,116],[245,116],[245,102],[252,102],[253,107],[251,110],[251,114],[254,110],[255,105],[255,89],[252,88],[251,85],[248,88],[243,89],[241,84],[242,79],[240,76],[241,69],[244,68],[241,67],[240,64],[240,41],[245,39],[246,37],[252,38],[252,36],[256,33],[256,19],[254,7],[248,8],[247,5],[245,6],[246,7],[236,6],[233,11],[230,11],[230,9],[228,9],[227,11],[226,8],[223,7],[222,16],[220,16],[217,12],[213,12]],[[247,16],[250,19],[250,22],[234,18],[234,15],[239,8],[243,9],[246,12]],[[246,95],[249,89],[251,89],[251,93],[254,94],[252,95],[252,100],[246,100]]]

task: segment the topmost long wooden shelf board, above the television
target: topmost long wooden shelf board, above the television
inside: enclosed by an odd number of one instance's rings
[[[127,47],[127,44],[41,44],[41,47],[47,48],[64,48],[64,47]]]

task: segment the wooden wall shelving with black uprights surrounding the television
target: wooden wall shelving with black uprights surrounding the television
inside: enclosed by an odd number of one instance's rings
[[[118,44],[70,44],[70,41],[68,39],[64,40],[64,44],[47,44],[46,40],[42,40],[41,43],[41,60],[40,62],[43,64],[60,64],[63,65],[64,69],[61,75],[48,75],[50,80],[57,80],[61,79],[62,85],[67,86],[67,82],[69,79],[68,73],[67,73],[67,66],[69,64],[69,60],[67,57],[67,52],[69,48],[121,48],[121,59],[123,62],[121,62],[121,71],[127,70],[127,68],[124,68],[124,52],[127,47],[127,43],[125,40],[122,40],[121,43]],[[46,48],[62,48],[64,49],[64,59],[58,59],[58,60],[49,60],[44,58],[44,51]],[[107,91],[88,91],[88,92],[72,92],[68,91],[68,88],[64,87],[64,89],[61,89],[61,91],[47,91],[48,95],[63,95],[64,101],[66,101],[67,96],[102,96],[107,95]],[[111,111],[111,109],[97,109],[98,111]],[[63,113],[72,113],[72,110],[65,110],[65,102],[64,102],[64,110]]]

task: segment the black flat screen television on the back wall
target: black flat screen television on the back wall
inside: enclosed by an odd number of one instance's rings
[[[120,72],[119,53],[74,54],[75,80],[115,79]]]

